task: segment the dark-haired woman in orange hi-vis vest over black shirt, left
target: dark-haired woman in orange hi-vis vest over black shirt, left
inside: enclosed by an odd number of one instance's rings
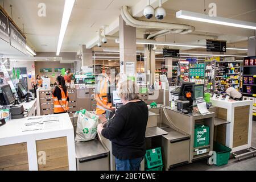
[[[52,94],[54,105],[53,112],[54,114],[67,113],[67,111],[69,110],[69,97],[64,77],[58,76],[56,78],[56,84],[57,86],[53,90]]]

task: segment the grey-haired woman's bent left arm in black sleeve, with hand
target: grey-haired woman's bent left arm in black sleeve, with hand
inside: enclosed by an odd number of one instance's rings
[[[98,125],[98,133],[106,139],[112,140],[121,133],[124,126],[125,118],[122,114],[116,113],[113,121],[109,123],[108,128],[104,128],[102,124]]]

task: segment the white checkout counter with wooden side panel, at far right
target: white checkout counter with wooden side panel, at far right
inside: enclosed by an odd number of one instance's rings
[[[211,98],[216,121],[222,123],[216,129],[217,142],[232,149],[232,152],[251,147],[253,101],[218,100]],[[226,124],[225,124],[226,123]]]

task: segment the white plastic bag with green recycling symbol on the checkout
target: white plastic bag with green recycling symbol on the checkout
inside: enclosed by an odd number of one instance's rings
[[[96,138],[98,115],[81,110],[77,118],[76,142],[86,142]]]

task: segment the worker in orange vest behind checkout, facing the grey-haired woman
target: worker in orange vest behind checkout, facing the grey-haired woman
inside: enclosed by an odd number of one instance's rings
[[[113,74],[110,74],[110,73]],[[95,89],[95,100],[97,101],[96,114],[104,114],[106,110],[115,110],[111,104],[111,86],[115,85],[116,70],[114,68],[108,68],[105,75],[101,75],[97,80],[97,87]],[[113,78],[112,78],[113,77]]]

